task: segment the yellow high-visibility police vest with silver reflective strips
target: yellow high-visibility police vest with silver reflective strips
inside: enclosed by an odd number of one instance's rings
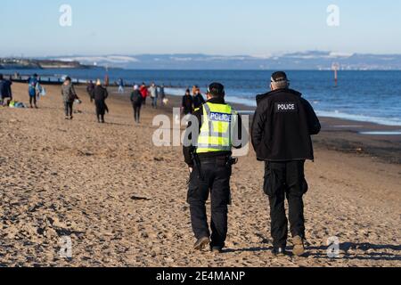
[[[236,125],[237,116],[229,105],[205,103],[196,153],[231,151],[233,126]]]

